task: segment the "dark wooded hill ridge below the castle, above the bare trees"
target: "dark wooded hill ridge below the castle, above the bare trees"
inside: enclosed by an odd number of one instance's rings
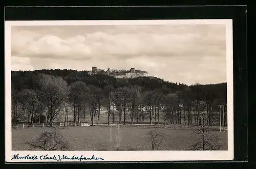
[[[68,85],[75,81],[85,82],[86,85],[93,85],[95,87],[104,89],[107,85],[113,86],[115,89],[120,87],[129,87],[136,85],[141,87],[142,91],[150,91],[155,89],[161,89],[164,93],[183,91],[186,87],[190,87],[194,92],[205,93],[210,92],[226,102],[226,82],[218,84],[200,85],[195,84],[187,86],[183,83],[164,81],[157,77],[137,77],[137,78],[115,78],[113,76],[105,74],[89,75],[88,71],[76,71],[76,70],[35,70],[35,71],[12,71],[11,80],[12,87],[20,91],[22,89],[36,89],[35,81],[38,78],[38,74],[49,74],[54,76],[60,76],[67,81]],[[200,95],[199,95],[200,96]]]

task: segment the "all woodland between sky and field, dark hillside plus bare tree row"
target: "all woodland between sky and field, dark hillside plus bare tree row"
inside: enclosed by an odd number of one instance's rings
[[[46,112],[52,123],[63,114],[65,104],[73,108],[73,121],[90,115],[92,125],[99,123],[100,107],[108,113],[108,124],[131,123],[213,125],[219,104],[226,104],[226,83],[215,85],[177,84],[156,77],[117,79],[88,71],[37,70],[12,71],[12,118],[26,116],[28,121]],[[122,117],[123,116],[123,117]],[[193,122],[194,121],[194,122]]]

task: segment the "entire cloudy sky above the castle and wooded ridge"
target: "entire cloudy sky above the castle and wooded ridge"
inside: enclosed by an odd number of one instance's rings
[[[226,82],[225,25],[12,26],[12,70],[125,69],[187,85]]]

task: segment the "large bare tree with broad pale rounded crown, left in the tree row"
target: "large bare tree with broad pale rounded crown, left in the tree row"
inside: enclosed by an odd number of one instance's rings
[[[47,122],[54,121],[67,100],[67,82],[54,75],[39,75],[40,97],[47,107]]]

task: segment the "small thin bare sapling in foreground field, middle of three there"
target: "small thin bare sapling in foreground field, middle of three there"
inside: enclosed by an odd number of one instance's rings
[[[166,137],[163,133],[161,133],[158,130],[151,130],[150,132],[147,133],[147,135],[150,139],[151,150],[158,150],[160,144]]]

